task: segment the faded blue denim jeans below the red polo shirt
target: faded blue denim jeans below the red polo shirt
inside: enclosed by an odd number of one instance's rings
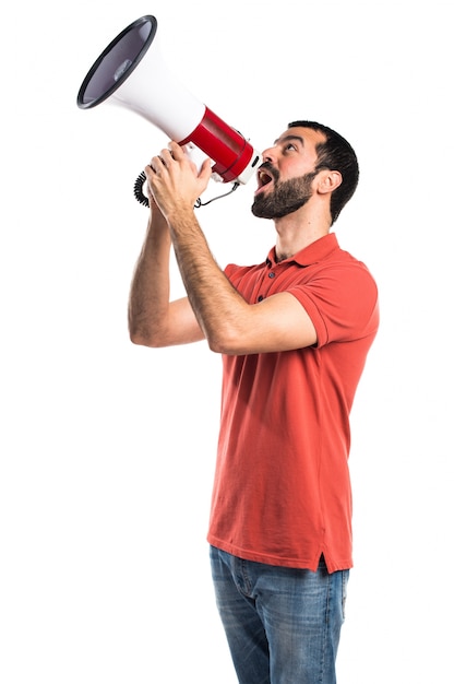
[[[216,603],[240,684],[335,684],[348,570],[237,558],[211,546]]]

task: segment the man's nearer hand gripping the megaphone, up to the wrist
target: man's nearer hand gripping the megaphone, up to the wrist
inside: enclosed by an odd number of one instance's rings
[[[145,167],[152,196],[167,220],[175,213],[193,210],[208,185],[211,174],[208,158],[199,172],[183,149],[174,141]]]

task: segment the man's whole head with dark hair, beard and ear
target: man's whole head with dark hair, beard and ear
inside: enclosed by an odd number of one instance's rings
[[[351,145],[315,121],[289,123],[274,146],[264,151],[263,160],[252,205],[252,213],[263,219],[280,219],[303,207],[316,179],[318,188],[330,193],[334,223],[358,185],[358,161]]]

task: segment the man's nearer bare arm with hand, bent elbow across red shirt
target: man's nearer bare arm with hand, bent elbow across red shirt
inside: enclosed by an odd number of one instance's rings
[[[180,273],[210,347],[224,354],[286,351],[316,342],[309,315],[288,293],[248,304],[214,260],[193,205],[211,169],[196,174],[177,143],[145,169],[153,196],[166,217]],[[193,165],[192,165],[193,166]]]

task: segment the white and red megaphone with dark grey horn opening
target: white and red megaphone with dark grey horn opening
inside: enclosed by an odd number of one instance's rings
[[[183,87],[167,69],[157,43],[157,20],[147,14],[127,26],[99,55],[82,82],[77,106],[91,109],[103,102],[131,109],[189,150],[213,160],[215,180],[248,182],[261,155],[236,129]],[[148,204],[140,186],[139,201]]]

